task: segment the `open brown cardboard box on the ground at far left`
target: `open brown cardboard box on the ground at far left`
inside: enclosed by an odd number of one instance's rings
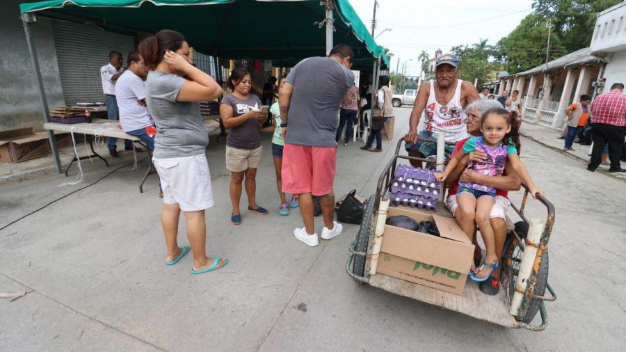
[[[2,163],[21,163],[47,154],[50,154],[48,136],[33,133],[33,127],[0,132],[0,162]]]

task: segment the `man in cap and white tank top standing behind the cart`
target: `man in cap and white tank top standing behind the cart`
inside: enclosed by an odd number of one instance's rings
[[[476,87],[470,82],[456,79],[458,58],[444,54],[435,63],[435,79],[426,81],[419,87],[411,117],[409,133],[404,137],[406,150],[412,157],[431,157],[437,154],[437,145],[433,142],[418,141],[419,138],[437,139],[437,134],[445,134],[446,142],[458,142],[467,138],[465,106],[481,99]],[[424,129],[417,133],[417,125],[426,109]],[[449,159],[454,145],[446,145],[445,154]],[[419,161],[411,160],[413,166],[420,166]]]

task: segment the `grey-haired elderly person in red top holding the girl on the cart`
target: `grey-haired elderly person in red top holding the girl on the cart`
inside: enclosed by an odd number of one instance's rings
[[[501,107],[501,104],[496,100],[476,100],[475,102],[468,104],[465,108],[465,112],[467,113],[467,133],[471,136],[481,136],[481,116],[483,113],[490,109],[501,109]],[[454,156],[454,154],[456,154],[456,152],[463,147],[463,144],[467,141],[467,139],[469,138],[465,138],[456,143],[452,156]],[[446,200],[446,207],[454,215],[458,225],[465,233],[474,234],[472,236],[472,241],[476,245],[476,232],[474,231],[476,223],[474,222],[474,214],[460,211],[456,202],[458,182],[459,180],[462,182],[476,182],[495,187],[496,199],[491,209],[490,218],[491,226],[493,227],[495,234],[496,255],[498,258],[501,258],[502,249],[504,248],[504,239],[506,239],[506,220],[504,214],[506,214],[506,209],[509,205],[511,205],[511,202],[508,200],[508,191],[517,191],[520,189],[522,183],[520,182],[520,178],[515,174],[511,163],[508,161],[506,162],[502,176],[483,176],[473,170],[465,170],[470,161],[485,160],[486,157],[487,154],[485,154],[485,152],[476,150],[474,152],[470,152],[470,154],[465,155],[465,157],[461,159],[456,169],[450,173],[446,180],[446,183],[450,186],[448,198]],[[481,249],[478,245],[476,245],[476,250],[474,251],[474,266],[478,266],[478,263],[480,262]],[[480,283],[480,289],[485,294],[495,295],[498,293],[498,289],[500,287],[500,270],[497,269],[493,271],[491,276],[490,280]]]

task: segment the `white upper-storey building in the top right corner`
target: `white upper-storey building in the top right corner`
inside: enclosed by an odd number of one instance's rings
[[[597,14],[591,53],[604,56],[604,91],[613,83],[626,84],[626,1]]]

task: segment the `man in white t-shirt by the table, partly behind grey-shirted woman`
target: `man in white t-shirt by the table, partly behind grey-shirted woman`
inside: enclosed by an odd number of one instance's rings
[[[128,54],[128,70],[125,70],[115,83],[115,97],[120,109],[120,125],[132,136],[137,136],[150,149],[154,150],[154,122],[145,105],[145,63],[135,51]],[[151,129],[148,133],[148,128]],[[131,147],[132,148],[132,147]],[[159,182],[159,189],[161,183]]]

